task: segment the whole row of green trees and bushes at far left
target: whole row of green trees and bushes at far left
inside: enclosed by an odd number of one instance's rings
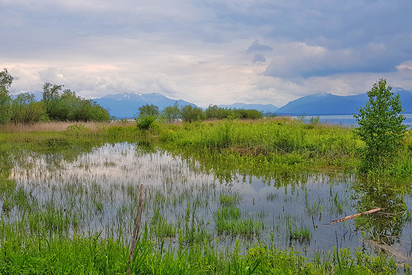
[[[93,100],[77,96],[64,85],[45,83],[43,98],[34,94],[19,94],[12,100],[10,88],[13,76],[8,69],[0,72],[0,124],[33,124],[50,121],[109,121],[110,114]]]

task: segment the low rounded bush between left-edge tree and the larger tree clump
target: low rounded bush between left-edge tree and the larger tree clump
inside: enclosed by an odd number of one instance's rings
[[[15,124],[33,124],[45,115],[43,102],[36,102],[34,94],[19,94],[12,100],[11,118]]]

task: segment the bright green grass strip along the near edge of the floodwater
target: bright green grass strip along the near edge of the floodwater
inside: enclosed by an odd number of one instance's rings
[[[0,225],[1,274],[124,274],[128,246],[121,239],[72,236],[37,239]],[[190,248],[155,248],[144,233],[135,252],[132,274],[396,274],[393,261],[361,251],[335,250],[325,261],[308,262],[290,252],[256,243],[247,253],[222,252],[213,244]]]

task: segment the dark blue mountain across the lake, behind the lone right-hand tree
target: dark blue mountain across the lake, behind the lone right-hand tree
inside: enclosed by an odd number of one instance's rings
[[[412,113],[412,91],[393,88],[400,95],[405,113]],[[356,96],[335,96],[333,94],[312,94],[288,102],[277,109],[277,115],[352,115],[358,108],[365,106],[367,94]]]

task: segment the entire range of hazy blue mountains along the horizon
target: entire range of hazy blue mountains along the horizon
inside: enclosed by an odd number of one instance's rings
[[[400,95],[404,113],[412,113],[412,91],[395,87],[392,89],[395,94]],[[36,100],[41,99],[41,92],[32,92]],[[12,95],[15,98],[16,95]],[[175,102],[180,107],[186,105],[196,106],[185,100],[173,100],[159,93],[134,94],[131,92],[109,94],[102,98],[93,99],[116,118],[133,118],[139,107],[144,104],[154,104],[163,110],[164,107],[172,106]],[[276,113],[277,115],[352,115],[357,113],[358,108],[365,106],[367,94],[356,96],[336,96],[333,94],[322,93],[304,96],[288,102],[283,107],[276,107],[273,104],[245,104],[236,102],[233,104],[220,104],[222,108],[236,109],[256,109],[264,113]]]

